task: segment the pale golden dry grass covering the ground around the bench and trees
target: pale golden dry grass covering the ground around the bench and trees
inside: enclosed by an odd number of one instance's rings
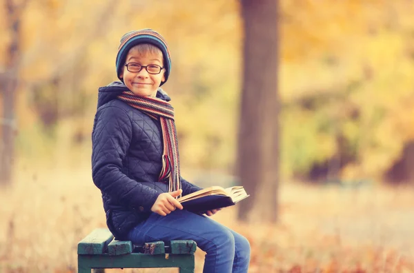
[[[0,273],[76,272],[78,241],[105,227],[89,163],[45,165],[19,162],[0,192]],[[411,188],[284,183],[275,225],[239,223],[237,208],[213,218],[249,239],[252,273],[414,272],[413,197]],[[204,252],[196,254],[201,272]]]

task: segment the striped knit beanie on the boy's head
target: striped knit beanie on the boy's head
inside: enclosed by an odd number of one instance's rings
[[[159,48],[164,56],[164,68],[166,70],[164,76],[166,81],[168,79],[168,75],[170,74],[171,70],[171,58],[170,58],[170,51],[168,50],[168,45],[164,37],[161,36],[155,30],[151,30],[149,28],[144,28],[143,30],[132,30],[121,38],[121,44],[118,48],[117,54],[117,76],[119,78],[119,73],[121,73],[121,68],[125,65],[125,59],[128,55],[128,52],[131,48],[139,43],[150,43],[155,45]],[[122,79],[119,78],[121,81]],[[161,83],[163,85],[166,81]],[[160,85],[160,86],[161,86]]]

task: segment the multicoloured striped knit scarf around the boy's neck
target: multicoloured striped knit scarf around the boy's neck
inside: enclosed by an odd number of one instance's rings
[[[162,154],[162,169],[159,181],[168,183],[168,192],[181,189],[179,172],[179,154],[177,131],[174,123],[174,108],[162,99],[156,97],[138,97],[128,91],[122,92],[118,99],[125,101],[133,108],[148,114],[152,119],[161,123],[164,151]],[[180,196],[177,196],[177,198]]]

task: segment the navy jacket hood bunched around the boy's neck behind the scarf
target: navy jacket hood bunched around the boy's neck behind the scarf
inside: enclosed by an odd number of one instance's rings
[[[114,81],[106,86],[99,88],[97,108],[101,107],[105,103],[108,103],[109,101],[117,99],[117,96],[121,94],[121,92],[128,90],[129,89],[126,87],[126,85],[121,81]],[[161,88],[158,88],[156,97],[164,101],[171,100],[168,94]]]

